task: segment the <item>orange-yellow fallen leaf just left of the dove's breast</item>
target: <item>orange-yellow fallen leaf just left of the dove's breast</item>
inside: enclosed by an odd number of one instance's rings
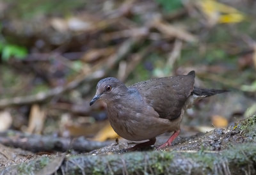
[[[106,141],[107,139],[115,139],[119,137],[113,130],[111,125],[107,123],[98,133],[93,137],[94,141]]]

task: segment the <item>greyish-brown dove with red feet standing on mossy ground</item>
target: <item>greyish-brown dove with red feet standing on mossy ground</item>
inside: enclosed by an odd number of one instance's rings
[[[153,145],[157,135],[173,132],[166,143],[170,146],[179,135],[184,110],[198,98],[223,93],[225,90],[201,89],[194,86],[195,71],[150,79],[129,87],[113,77],[102,79],[97,84],[96,100],[104,100],[108,106],[108,118],[118,135],[130,141],[147,142],[132,149]]]

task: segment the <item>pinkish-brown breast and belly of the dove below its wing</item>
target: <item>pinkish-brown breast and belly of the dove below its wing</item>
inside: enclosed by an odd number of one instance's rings
[[[171,128],[170,120],[158,117],[157,112],[149,105],[141,109],[116,104],[108,106],[108,118],[115,132],[130,141],[152,139]]]

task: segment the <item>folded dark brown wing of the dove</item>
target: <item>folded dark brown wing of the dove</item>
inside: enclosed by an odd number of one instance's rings
[[[160,118],[175,119],[194,88],[195,72],[188,75],[163,77],[138,82],[129,86],[136,88],[145,101],[156,110]]]

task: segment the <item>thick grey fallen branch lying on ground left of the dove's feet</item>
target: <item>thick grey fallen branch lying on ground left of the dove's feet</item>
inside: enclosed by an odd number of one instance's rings
[[[84,137],[68,139],[63,137],[54,137],[52,135],[44,136],[17,131],[0,133],[0,143],[5,146],[26,149],[35,153],[44,151],[64,152],[68,149],[74,149],[78,152],[88,152],[111,144],[111,142],[90,141],[88,139],[84,139]]]

